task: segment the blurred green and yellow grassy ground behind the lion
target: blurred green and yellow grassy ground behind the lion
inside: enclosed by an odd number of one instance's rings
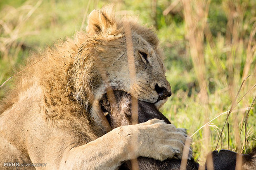
[[[195,159],[204,161],[204,153],[213,149],[246,153],[256,145],[256,2],[114,2],[118,15],[139,15],[142,24],[154,25],[173,90],[161,111],[177,127],[189,129]],[[87,14],[107,3],[1,1],[0,83],[20,71],[31,52],[84,30]],[[0,89],[0,98],[9,83]]]

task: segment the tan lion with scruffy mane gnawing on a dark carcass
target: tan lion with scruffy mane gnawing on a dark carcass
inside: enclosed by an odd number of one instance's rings
[[[127,27],[134,78],[127,67]],[[152,119],[110,131],[101,117],[100,100],[109,88],[157,108],[171,96],[162,55],[152,29],[116,18],[109,6],[93,10],[86,32],[33,55],[27,65],[40,62],[20,74],[1,101],[1,169],[18,163],[21,169],[114,170],[140,156],[181,158],[184,129]]]

